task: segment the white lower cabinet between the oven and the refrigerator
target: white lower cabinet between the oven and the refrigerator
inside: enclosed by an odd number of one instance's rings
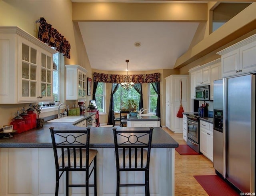
[[[200,152],[213,161],[213,124],[200,120]]]

